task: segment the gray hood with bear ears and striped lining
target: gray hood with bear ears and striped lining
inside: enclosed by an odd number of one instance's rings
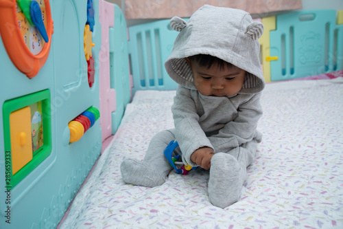
[[[248,12],[204,5],[189,21],[174,17],[170,25],[180,33],[165,61],[165,69],[176,83],[196,89],[185,57],[209,54],[246,71],[239,94],[255,94],[263,90],[265,81],[257,41],[263,33],[263,24],[252,21]]]

